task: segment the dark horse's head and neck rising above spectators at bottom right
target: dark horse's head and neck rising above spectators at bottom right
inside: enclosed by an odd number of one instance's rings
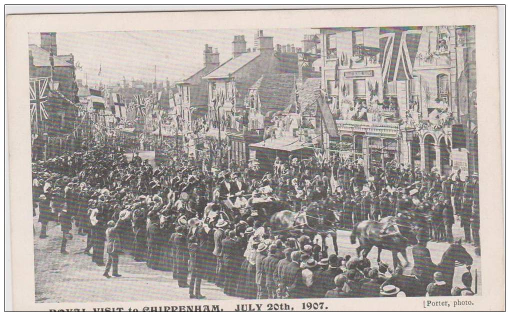
[[[436,271],[443,273],[443,277],[448,285],[453,285],[453,274],[457,266],[471,266],[473,264],[473,257],[468,253],[466,248],[462,246],[462,240],[451,244],[448,249],[443,253],[441,261],[436,267]]]

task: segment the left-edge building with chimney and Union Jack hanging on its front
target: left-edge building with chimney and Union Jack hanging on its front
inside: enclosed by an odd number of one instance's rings
[[[57,34],[41,33],[29,45],[30,114],[34,157],[78,150],[85,127],[78,109],[74,56],[57,53]]]

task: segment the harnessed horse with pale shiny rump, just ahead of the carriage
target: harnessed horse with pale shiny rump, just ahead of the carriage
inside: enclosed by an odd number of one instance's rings
[[[322,250],[326,250],[326,238],[333,239],[333,248],[338,254],[336,217],[334,211],[324,206],[323,201],[310,204],[301,212],[291,210],[278,211],[271,215],[267,225],[272,233],[287,232],[291,234],[305,234],[312,239],[318,234],[322,238]]]

